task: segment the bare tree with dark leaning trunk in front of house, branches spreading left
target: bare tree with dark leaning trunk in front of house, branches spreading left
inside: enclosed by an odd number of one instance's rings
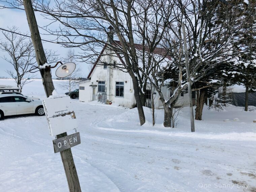
[[[111,53],[117,53],[122,57],[122,67],[131,76],[134,97],[138,109],[140,124],[145,123],[145,115],[142,108],[138,60],[135,49],[135,36],[133,34],[134,11],[133,8],[140,2],[114,0],[67,0],[55,1],[55,5],[44,1],[34,1],[34,10],[50,15],[51,24],[59,22],[59,29],[44,29],[52,35],[56,35],[58,41],[66,46],[80,47],[84,54],[80,55],[85,61],[93,56],[98,57],[97,48],[107,46]],[[135,4],[134,4],[135,3]],[[7,2],[3,7],[15,7],[23,9],[23,1]],[[117,41],[107,42],[107,27],[111,25],[115,31]],[[56,26],[56,25],[55,25]],[[49,30],[50,29],[50,30]]]

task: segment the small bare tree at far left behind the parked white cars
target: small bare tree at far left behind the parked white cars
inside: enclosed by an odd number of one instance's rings
[[[10,31],[18,32],[17,27],[8,28]],[[30,70],[31,65],[35,64],[35,54],[33,44],[30,39],[25,36],[10,32],[2,32],[5,41],[0,42],[0,49],[5,53],[3,59],[10,63],[14,70],[7,70],[6,72],[14,79],[17,87],[22,92],[24,85],[30,83],[30,78],[34,75],[28,75],[24,78],[26,73]]]

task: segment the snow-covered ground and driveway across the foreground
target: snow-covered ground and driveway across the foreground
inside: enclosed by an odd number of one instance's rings
[[[24,88],[27,95],[38,89],[32,84],[33,90]],[[163,110],[156,110],[152,127],[146,107],[147,122],[139,126],[136,108],[72,104],[81,135],[72,153],[82,191],[256,191],[256,111],[205,106],[191,133],[187,107],[172,129],[162,125]],[[45,116],[6,118],[0,138],[0,191],[68,191]]]

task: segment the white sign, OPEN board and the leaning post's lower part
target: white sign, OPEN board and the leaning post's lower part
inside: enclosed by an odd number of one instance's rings
[[[43,100],[45,116],[53,140],[54,153],[60,152],[70,192],[81,192],[71,147],[81,143],[79,132],[67,135],[67,131],[77,128],[71,99],[67,97],[47,98]]]

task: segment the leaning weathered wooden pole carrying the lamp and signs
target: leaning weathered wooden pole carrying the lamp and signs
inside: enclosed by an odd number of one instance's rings
[[[47,63],[45,53],[43,50],[43,45],[40,37],[40,33],[38,30],[36,18],[35,18],[35,13],[33,10],[32,2],[31,0],[23,0],[24,4],[24,9],[27,15],[27,20],[28,20],[28,25],[31,33],[31,39],[32,43],[34,45],[35,49],[35,54],[36,54],[36,61],[42,76],[42,81],[43,81],[43,87],[44,91],[47,97],[52,95],[53,90],[54,90],[54,85],[53,85],[53,79],[51,75],[51,68],[50,67],[44,67],[40,68],[40,66],[44,65]],[[59,135],[56,135],[57,138],[61,138],[64,136],[67,136],[67,133],[62,133]],[[75,163],[74,159],[72,156],[71,149],[66,149],[64,151],[60,152],[61,159],[63,162],[67,182],[68,182],[68,187],[70,192],[81,192],[81,187],[79,184],[78,180],[78,175],[76,172],[75,168]]]

